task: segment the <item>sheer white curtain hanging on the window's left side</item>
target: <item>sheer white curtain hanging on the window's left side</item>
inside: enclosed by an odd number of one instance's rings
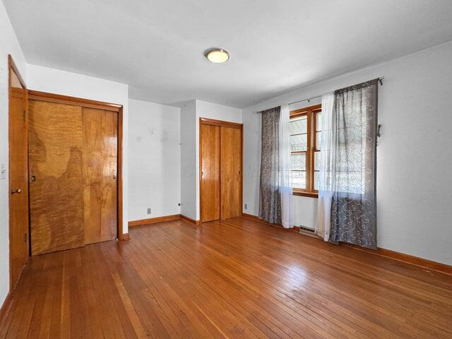
[[[290,165],[290,109],[282,105],[279,124],[279,172],[282,224],[285,228],[294,227],[292,208],[292,167]]]

